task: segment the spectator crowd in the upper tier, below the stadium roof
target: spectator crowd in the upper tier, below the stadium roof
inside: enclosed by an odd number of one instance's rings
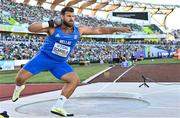
[[[29,6],[23,3],[10,2],[10,0],[1,0],[0,2],[0,24],[9,24],[7,19],[13,18],[20,24],[31,24],[35,21],[48,21],[59,14],[59,11],[51,11],[39,6]],[[133,31],[142,32],[142,26],[130,23],[124,24],[120,21],[111,21],[110,19],[100,19],[88,15],[76,15],[76,22],[79,25],[103,26],[103,27],[130,27]],[[154,26],[150,26],[155,32],[162,31]]]

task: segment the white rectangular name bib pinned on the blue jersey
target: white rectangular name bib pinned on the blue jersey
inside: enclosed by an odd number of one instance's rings
[[[70,52],[70,47],[55,43],[52,53],[61,57],[67,57]]]

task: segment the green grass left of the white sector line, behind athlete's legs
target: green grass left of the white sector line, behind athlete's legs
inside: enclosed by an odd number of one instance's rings
[[[73,65],[74,70],[78,73],[81,81],[88,79],[90,76],[109,67],[109,64],[90,64],[88,66]],[[0,83],[14,83],[17,70],[0,71]],[[41,72],[31,77],[28,83],[58,83],[62,82],[56,79],[50,72]]]

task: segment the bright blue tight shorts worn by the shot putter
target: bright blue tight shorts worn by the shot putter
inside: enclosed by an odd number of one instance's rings
[[[24,70],[29,71],[33,75],[42,71],[50,71],[57,79],[69,72],[74,72],[67,62],[58,62],[48,57],[43,52],[39,52],[34,56],[26,65],[23,66]]]

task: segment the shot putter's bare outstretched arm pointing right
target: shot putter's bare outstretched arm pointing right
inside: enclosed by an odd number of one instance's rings
[[[100,35],[100,34],[112,34],[114,32],[131,32],[128,27],[113,28],[113,27],[79,27],[81,35]]]

